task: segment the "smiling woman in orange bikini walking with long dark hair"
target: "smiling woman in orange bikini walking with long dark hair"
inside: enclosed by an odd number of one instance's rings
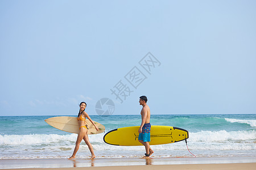
[[[86,112],[84,112],[85,108],[86,108],[86,103],[81,102],[80,103],[79,114],[77,116],[77,121],[79,123],[79,134],[78,134],[77,139],[76,139],[76,147],[75,147],[75,150],[73,152],[73,155],[68,159],[76,158],[76,152],[79,150],[80,142],[82,141],[82,139],[84,139],[86,145],[89,147],[90,153],[92,154],[92,157],[90,157],[90,159],[94,159],[96,157],[94,155],[94,152],[93,152],[93,147],[90,144],[90,141],[89,141],[89,138],[88,138],[88,134],[87,134],[88,128],[87,128],[87,125],[86,125],[86,122],[85,122],[85,118],[87,117],[88,120],[90,122],[92,122],[92,124],[95,126],[95,129],[97,131],[98,131],[98,127],[94,124],[94,122],[89,117],[89,115]]]

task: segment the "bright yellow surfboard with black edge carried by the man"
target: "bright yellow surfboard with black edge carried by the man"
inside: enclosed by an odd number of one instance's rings
[[[118,128],[104,135],[104,142],[109,145],[139,146],[139,126]],[[151,126],[150,145],[162,145],[183,141],[188,138],[188,131],[172,126]]]

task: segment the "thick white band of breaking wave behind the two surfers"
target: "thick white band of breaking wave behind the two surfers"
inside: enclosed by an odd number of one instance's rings
[[[112,145],[105,145],[103,141],[104,133],[89,135],[90,142],[93,145],[104,145],[108,150]],[[22,145],[73,145],[77,134],[31,134],[31,135],[0,135],[0,146],[22,146]],[[199,131],[189,133],[190,142],[242,142],[256,140],[256,131]],[[116,148],[114,146],[114,148]],[[131,147],[129,147],[131,148]],[[103,148],[104,149],[104,148]]]

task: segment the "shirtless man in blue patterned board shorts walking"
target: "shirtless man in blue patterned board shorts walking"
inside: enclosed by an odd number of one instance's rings
[[[154,151],[151,149],[148,142],[150,142],[150,108],[147,105],[147,97],[141,96],[139,97],[139,104],[142,105],[141,109],[141,127],[139,127],[139,142],[145,146],[146,156],[143,158],[149,158]]]

